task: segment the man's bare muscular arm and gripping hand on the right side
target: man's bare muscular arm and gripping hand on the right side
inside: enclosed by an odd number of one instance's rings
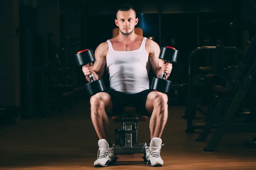
[[[166,73],[165,79],[168,79],[172,71],[172,63],[166,62],[162,59],[159,59],[160,47],[153,40],[148,39],[148,49],[149,49],[149,61],[152,65],[152,70],[157,78],[162,77],[162,73]]]

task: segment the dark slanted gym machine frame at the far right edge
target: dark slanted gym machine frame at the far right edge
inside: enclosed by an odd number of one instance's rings
[[[243,104],[243,101],[247,98],[247,96],[249,96],[249,94],[253,94],[252,91],[255,91],[255,87],[253,87],[253,85],[255,85],[256,76],[255,54],[256,35],[253,37],[253,40],[248,50],[246,51],[246,54],[241,59],[241,62],[236,68],[236,71],[230,79],[227,87],[214,87],[215,90],[221,91],[225,95],[218,101],[198,139],[196,139],[196,141],[204,141],[210,133],[211,129],[214,126],[217,128],[207,147],[204,148],[204,151],[214,151],[226,131],[256,132],[256,123],[231,123],[239,107]],[[255,102],[256,95],[253,94],[251,96],[253,98],[250,100]],[[219,125],[214,125],[220,113],[223,112],[224,117],[222,118]]]

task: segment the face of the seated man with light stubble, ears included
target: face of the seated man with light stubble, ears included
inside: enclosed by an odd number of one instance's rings
[[[119,30],[124,35],[131,34],[134,31],[134,27],[137,25],[139,20],[138,18],[136,18],[135,12],[133,10],[118,11],[116,17],[116,26],[119,27]]]

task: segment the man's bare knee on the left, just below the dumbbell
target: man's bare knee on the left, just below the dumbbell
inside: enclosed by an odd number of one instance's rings
[[[106,103],[110,100],[107,94],[97,93],[90,98],[91,107],[101,108],[105,107]]]

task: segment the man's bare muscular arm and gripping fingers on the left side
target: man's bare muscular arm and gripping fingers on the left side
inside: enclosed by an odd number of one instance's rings
[[[95,80],[101,79],[105,71],[106,56],[108,54],[108,42],[102,42],[95,50],[95,62],[93,64],[92,73]],[[90,77],[86,76],[88,82]]]

